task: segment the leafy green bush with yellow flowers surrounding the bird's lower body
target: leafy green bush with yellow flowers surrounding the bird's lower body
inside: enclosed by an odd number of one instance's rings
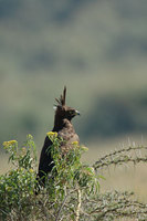
[[[81,155],[87,148],[73,143],[73,148],[63,156],[60,149],[63,140],[57,138],[56,133],[48,133],[48,136],[53,143],[48,151],[51,151],[55,166],[50,179],[46,177],[46,187],[40,187],[38,197],[34,193],[38,187],[36,152],[32,136],[27,137],[27,143],[21,148],[17,140],[3,143],[6,151],[10,155],[9,161],[13,164],[14,169],[0,177],[0,218],[2,220],[32,219],[34,212],[35,219],[43,219],[41,208],[44,203],[46,203],[46,209],[50,208],[54,213],[51,212],[50,219],[55,217],[56,210],[59,210],[57,217],[60,218],[65,215],[61,214],[60,207],[67,196],[73,208],[69,214],[75,218],[77,191],[90,194],[98,190],[98,176],[92,167],[81,162]]]

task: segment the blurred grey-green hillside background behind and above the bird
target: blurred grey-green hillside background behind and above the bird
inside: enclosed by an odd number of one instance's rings
[[[32,134],[40,151],[64,85],[87,160],[146,140],[146,0],[0,0],[0,144]]]

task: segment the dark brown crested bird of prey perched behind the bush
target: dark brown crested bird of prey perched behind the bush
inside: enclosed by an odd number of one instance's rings
[[[66,97],[66,87],[64,87],[63,95],[55,101],[57,105],[55,106],[55,117],[54,117],[54,127],[52,131],[56,131],[57,136],[61,137],[64,143],[61,144],[63,152],[66,152],[69,149],[72,148],[72,143],[77,141],[80,143],[80,138],[74,130],[74,127],[71,123],[72,118],[76,115],[80,115],[80,112],[76,109],[69,107],[65,105],[65,97]],[[45,183],[45,176],[51,172],[54,164],[51,156],[50,147],[52,141],[46,136],[44,140],[43,148],[41,150],[40,162],[39,162],[39,172],[38,172],[38,180],[41,185]]]

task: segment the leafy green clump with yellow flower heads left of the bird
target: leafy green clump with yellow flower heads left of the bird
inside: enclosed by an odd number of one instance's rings
[[[2,220],[23,220],[32,210],[35,187],[36,155],[31,135],[25,147],[18,148],[18,141],[4,141],[4,149],[10,154],[9,161],[14,169],[0,176],[0,218]]]

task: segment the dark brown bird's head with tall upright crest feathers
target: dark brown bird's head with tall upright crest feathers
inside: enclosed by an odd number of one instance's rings
[[[63,94],[60,96],[60,98],[55,98],[57,102],[57,105],[54,106],[55,114],[61,118],[66,118],[71,120],[76,115],[80,115],[80,112],[69,107],[65,105],[65,98],[66,98],[66,86],[64,86]]]

